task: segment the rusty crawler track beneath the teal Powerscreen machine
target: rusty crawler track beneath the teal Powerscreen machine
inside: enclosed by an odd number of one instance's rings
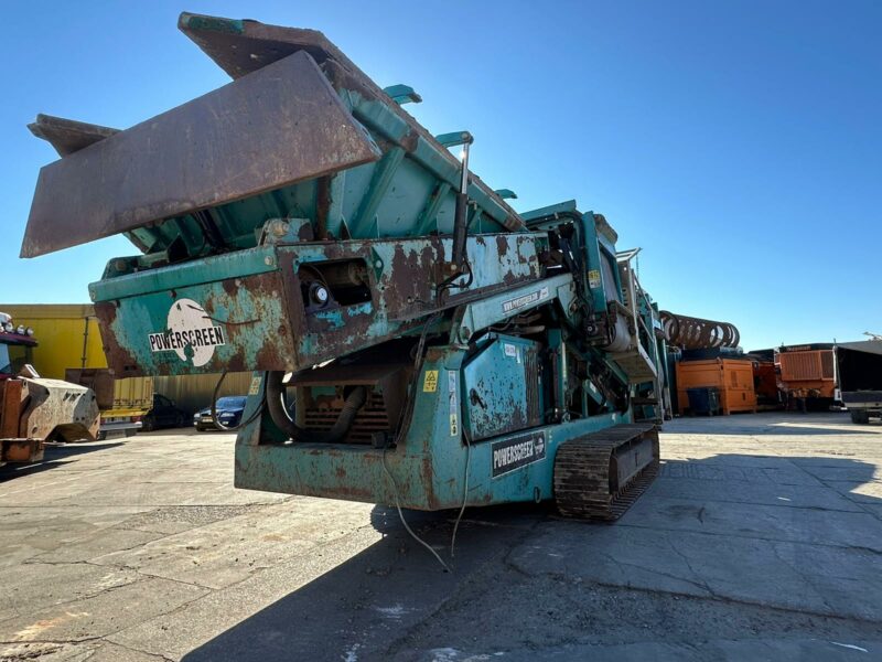
[[[610,489],[613,453],[646,436],[653,440],[650,462],[613,494]],[[555,501],[560,514],[579,520],[617,520],[653,483],[658,461],[658,430],[653,424],[616,425],[564,441],[555,457]]]

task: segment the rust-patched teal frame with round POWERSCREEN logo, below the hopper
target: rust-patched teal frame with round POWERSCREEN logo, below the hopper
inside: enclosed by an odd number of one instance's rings
[[[517,289],[506,282],[537,280],[546,243],[544,233],[471,235],[471,282],[443,300],[432,274],[450,259],[448,237],[260,246],[105,279],[90,292],[119,374],[301,370],[406,333],[458,301]],[[300,268],[342,259],[368,267],[370,299],[308,316],[297,285]],[[181,299],[195,301],[224,332],[225,343],[202,365],[157,352],[149,342],[151,333],[166,330],[170,308]]]

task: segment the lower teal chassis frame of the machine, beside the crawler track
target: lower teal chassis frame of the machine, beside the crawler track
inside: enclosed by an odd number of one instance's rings
[[[261,425],[246,427],[236,441],[237,488],[346,499],[416,510],[443,510],[462,505],[546,500],[553,495],[553,458],[563,441],[631,423],[630,414],[611,413],[558,425],[544,425],[528,433],[542,433],[542,460],[492,476],[493,444],[519,439],[521,430],[487,439],[471,447],[460,433],[451,434],[452,413],[462,418],[461,369],[465,350],[433,349],[427,355],[418,385],[427,371],[442,375],[435,392],[416,392],[412,423],[406,439],[395,449],[376,449],[346,444],[261,444]],[[453,375],[453,392],[449,388]],[[260,373],[256,377],[262,377]],[[249,397],[245,417],[260,406],[263,382]],[[453,397],[451,397],[451,394]],[[385,468],[384,468],[385,461]],[[463,494],[467,465],[469,492]],[[394,483],[386,473],[394,478]]]

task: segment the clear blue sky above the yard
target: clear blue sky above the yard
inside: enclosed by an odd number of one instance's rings
[[[126,128],[228,78],[181,10],[322,30],[527,211],[606,215],[662,308],[745,349],[882,333],[882,2],[17,2],[0,41],[0,301],[82,302],[114,237],[19,259],[37,113]]]

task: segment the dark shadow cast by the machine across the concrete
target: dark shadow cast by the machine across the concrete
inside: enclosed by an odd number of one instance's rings
[[[739,478],[741,470],[752,472],[750,489],[749,482]],[[646,540],[703,536],[707,548],[692,553],[704,555],[698,564],[710,565],[717,555],[732,555],[733,540],[750,541],[759,549],[781,541],[815,544],[814,538],[825,537],[824,525],[818,530],[817,520],[810,525],[804,516],[808,516],[808,510],[817,511],[818,504],[785,503],[776,501],[775,494],[792,493],[817,481],[829,501],[847,500],[850,490],[873,480],[873,472],[874,466],[870,463],[826,457],[728,453],[702,460],[671,460],[663,463],[659,479],[616,524],[562,521],[549,504],[470,509],[460,525],[452,562],[449,544],[456,512],[406,511],[408,522],[420,536],[452,563],[452,574],[443,572],[407,535],[394,508],[377,506],[372,523],[384,534],[381,541],[218,634],[183,660],[404,661],[434,659],[430,651],[444,647],[466,649],[470,654],[537,651],[553,638],[569,641],[567,645],[588,645],[611,638],[621,642],[649,638],[691,647],[727,637],[732,640],[802,634],[813,638],[819,629],[825,633],[853,636],[853,629],[849,630],[851,621],[843,615],[818,615],[814,608],[803,608],[796,602],[776,604],[774,594],[761,586],[755,594],[745,594],[741,581],[743,568],[733,567],[730,575],[717,577],[723,588],[714,587],[710,595],[671,587],[669,576],[665,578],[664,573],[658,574],[659,584],[655,587],[652,586],[655,576],[648,573],[644,575],[648,577],[647,586],[633,585],[632,578],[600,581],[592,573],[600,573],[596,568],[602,564],[609,566],[610,558],[624,556],[628,564],[645,562],[656,568],[666,563],[671,567],[682,564],[682,558],[678,558],[682,552],[674,545],[641,549],[630,536],[645,535]],[[690,483],[689,490],[686,483]],[[756,484],[765,487],[754,490]],[[708,495],[697,493],[697,489],[707,490]],[[853,500],[841,503],[850,504],[852,514],[865,517],[861,504],[880,504],[882,500],[861,495],[860,503]],[[738,533],[732,533],[736,537],[730,537],[725,531],[719,533],[731,521],[743,519],[745,505],[750,504],[774,514],[754,523],[745,522]],[[878,520],[873,522],[878,524]],[[830,535],[848,537],[850,533],[836,531]],[[819,540],[817,544],[827,545],[828,541]],[[860,548],[872,546],[860,541],[848,544]],[[882,554],[882,540],[875,546],[874,554]],[[767,553],[771,555],[772,551]],[[848,568],[832,567],[829,559],[805,563],[806,572],[826,576],[826,581],[833,584],[842,573],[848,573]],[[725,587],[730,585],[740,585],[738,595],[729,595]],[[628,597],[605,602],[591,598],[595,595],[592,591],[602,592],[610,587]],[[516,599],[531,599],[541,608],[518,611],[518,627],[513,628]],[[867,600],[868,613],[879,613],[882,621],[882,595]],[[644,602],[652,608],[641,607]],[[626,612],[635,609],[638,617]],[[688,613],[684,617],[685,610]],[[750,616],[750,627],[744,623],[747,618],[744,613]],[[639,618],[639,622],[633,622],[633,618]],[[858,622],[865,627],[871,621]]]

